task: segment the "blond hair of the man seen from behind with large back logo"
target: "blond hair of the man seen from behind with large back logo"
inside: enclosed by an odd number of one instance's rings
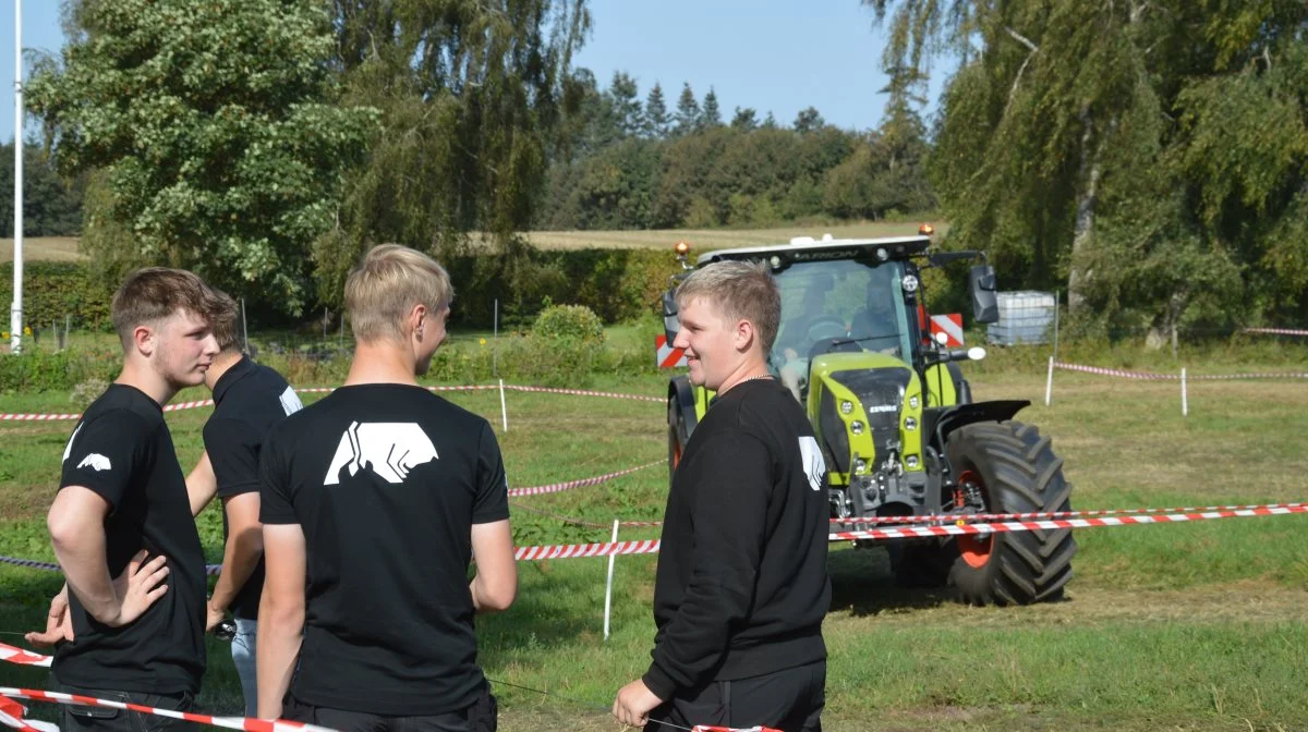
[[[354,339],[402,340],[413,306],[433,314],[454,299],[450,274],[430,256],[399,244],[379,244],[364,255],[345,280],[345,310]]]

